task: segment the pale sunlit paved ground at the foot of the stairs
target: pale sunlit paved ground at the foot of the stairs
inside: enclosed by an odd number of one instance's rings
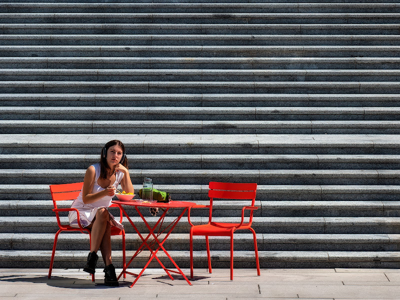
[[[138,270],[130,269],[133,272]],[[183,269],[188,274],[187,269]],[[0,300],[7,299],[400,299],[400,269],[195,269],[192,286],[162,269],[147,269],[129,288],[127,275],[119,287],[107,287],[101,269],[92,283],[79,269],[0,269]],[[84,296],[82,296],[84,294]]]

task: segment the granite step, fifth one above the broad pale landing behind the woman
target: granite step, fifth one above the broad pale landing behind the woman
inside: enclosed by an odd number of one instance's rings
[[[400,81],[398,69],[4,68],[0,81]]]

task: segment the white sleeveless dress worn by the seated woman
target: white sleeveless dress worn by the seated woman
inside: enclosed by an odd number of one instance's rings
[[[100,163],[97,162],[92,165],[94,166],[94,169],[95,169],[95,179],[94,179],[93,189],[91,190],[91,193],[95,193],[95,192],[102,191],[105,188],[102,188],[97,183],[97,179],[100,176]],[[122,177],[123,177],[122,172],[115,172],[115,182],[112,184],[112,186],[117,188],[119,185],[119,182],[121,182],[121,180],[122,180]],[[83,187],[82,187],[82,190],[83,190]],[[111,205],[112,196],[104,196],[93,203],[85,204],[85,203],[83,203],[83,200],[82,200],[82,190],[80,191],[77,198],[75,200],[73,200],[71,208],[78,209],[80,223],[82,224],[83,227],[86,227],[86,226],[90,225],[91,221],[93,220],[94,216],[96,215],[98,208],[108,207],[109,205]],[[69,219],[69,224],[72,227],[79,228],[76,211],[69,211],[68,219]],[[110,223],[112,226],[116,226],[119,229],[123,229],[123,225],[121,223],[119,223],[118,221],[116,221],[111,213],[110,213]]]

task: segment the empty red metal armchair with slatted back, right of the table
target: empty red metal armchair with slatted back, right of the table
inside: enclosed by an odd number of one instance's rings
[[[208,269],[211,273],[211,259],[209,253],[208,236],[230,236],[230,280],[233,280],[233,232],[236,230],[249,229],[253,233],[255,263],[257,266],[257,275],[260,274],[257,239],[255,231],[251,228],[253,218],[253,211],[258,209],[259,206],[254,206],[255,191],[257,183],[228,183],[228,182],[209,182],[209,205],[194,205],[191,208],[209,208],[208,223],[203,225],[193,225],[190,221],[190,207],[187,212],[187,217],[190,227],[190,278],[193,278],[193,235],[204,235],[207,248]],[[250,206],[243,206],[241,209],[241,222],[240,223],[219,223],[212,222],[212,199],[251,199]],[[248,222],[244,222],[244,210],[249,209],[250,215]]]

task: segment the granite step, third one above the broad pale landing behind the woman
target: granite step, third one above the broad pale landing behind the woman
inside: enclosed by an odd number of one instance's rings
[[[334,94],[303,94],[303,93],[0,93],[0,107],[7,106],[82,106],[89,107],[118,106],[165,106],[193,107],[215,106],[225,107],[245,106],[279,106],[287,107],[353,107],[371,106],[371,109],[384,106],[395,109],[400,105],[400,95],[396,93],[334,93]],[[224,107],[224,108],[220,108]],[[282,109],[283,109],[282,108]],[[148,109],[154,109],[148,107]],[[340,108],[339,108],[340,109]],[[119,110],[118,110],[119,112]],[[333,113],[334,114],[334,113]],[[123,117],[123,116],[122,116]]]

